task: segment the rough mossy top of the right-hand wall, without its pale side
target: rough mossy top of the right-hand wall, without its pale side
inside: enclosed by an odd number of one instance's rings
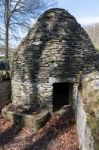
[[[93,139],[93,149],[99,150],[99,73],[93,72],[82,81],[81,96],[83,99],[84,111],[91,137]]]

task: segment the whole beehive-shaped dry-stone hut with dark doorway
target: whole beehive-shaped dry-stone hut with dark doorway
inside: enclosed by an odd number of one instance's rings
[[[18,47],[12,64],[12,103],[58,110],[71,104],[79,73],[95,68],[87,33],[64,9],[43,13]]]

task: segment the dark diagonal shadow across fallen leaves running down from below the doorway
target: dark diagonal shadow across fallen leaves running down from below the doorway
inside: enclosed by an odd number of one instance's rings
[[[60,144],[57,141],[55,142],[55,139],[63,132],[68,133],[69,129],[75,124],[75,120],[73,114],[70,113],[60,119],[52,120],[49,124],[50,126],[46,126],[47,128],[44,129],[41,136],[28,144],[24,150],[49,150],[51,143],[54,143],[54,146]],[[31,137],[31,139],[33,138]]]

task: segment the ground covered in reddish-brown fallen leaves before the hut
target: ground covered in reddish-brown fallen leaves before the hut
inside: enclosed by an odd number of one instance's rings
[[[79,150],[74,116],[53,116],[33,133],[0,115],[0,150]]]

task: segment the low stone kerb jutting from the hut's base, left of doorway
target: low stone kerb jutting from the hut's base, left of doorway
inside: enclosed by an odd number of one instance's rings
[[[10,111],[6,106],[2,109],[2,116],[4,118],[12,120],[14,123],[19,124],[20,126],[33,128],[33,131],[37,131],[48,122],[51,114],[47,110],[42,110],[38,114],[28,115]]]

